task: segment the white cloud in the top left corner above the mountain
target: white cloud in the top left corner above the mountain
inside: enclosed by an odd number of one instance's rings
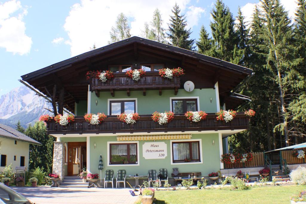
[[[12,0],[0,4],[0,47],[7,52],[24,55],[30,52],[32,38],[25,34],[23,17],[27,7],[20,1]]]

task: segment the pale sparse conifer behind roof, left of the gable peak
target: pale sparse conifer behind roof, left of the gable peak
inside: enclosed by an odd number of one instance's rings
[[[128,19],[123,13],[117,17],[116,25],[111,28],[110,41],[108,43],[115,43],[131,37]]]

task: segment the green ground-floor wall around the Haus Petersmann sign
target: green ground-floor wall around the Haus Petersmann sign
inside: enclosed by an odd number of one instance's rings
[[[155,169],[158,173],[159,169],[166,168],[168,176],[171,177],[172,168],[177,167],[179,172],[201,172],[202,176],[207,176],[211,172],[217,172],[220,169],[220,153],[218,134],[193,134],[192,139],[202,139],[203,164],[176,164],[171,165],[170,159],[170,140],[158,140],[156,142],[165,142],[167,144],[167,157],[164,159],[145,159],[142,153],[142,145],[145,142],[153,142],[150,140],[139,141],[139,166],[107,166],[107,142],[117,141],[116,136],[93,136],[90,137],[90,171],[91,173],[99,173],[99,157],[102,154],[104,169],[102,170],[102,179],[105,176],[106,169],[113,169],[115,177],[119,169],[125,169],[127,176],[129,175],[147,175],[149,169]],[[215,145],[212,141],[215,140]],[[96,143],[96,149],[94,148]]]

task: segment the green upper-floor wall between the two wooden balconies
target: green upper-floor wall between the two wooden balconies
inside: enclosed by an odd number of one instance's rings
[[[164,112],[170,110],[170,97],[199,97],[200,109],[206,113],[215,113],[217,111],[216,91],[214,89],[194,89],[192,92],[187,92],[184,89],[179,89],[177,95],[174,95],[174,90],[162,90],[162,95],[159,95],[158,90],[147,90],[146,96],[143,91],[131,91],[130,96],[127,96],[126,91],[115,91],[115,97],[110,95],[109,91],[101,91],[98,98],[94,92],[91,93],[91,113],[103,112],[107,114],[108,104],[107,99],[116,98],[137,98],[137,112],[139,114],[152,114],[155,111]],[[212,102],[210,102],[212,98]],[[96,100],[98,105],[96,106]]]

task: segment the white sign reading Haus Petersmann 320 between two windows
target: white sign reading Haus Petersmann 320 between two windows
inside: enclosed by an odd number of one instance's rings
[[[167,156],[167,144],[164,142],[144,143],[142,155],[145,159],[164,159]]]

